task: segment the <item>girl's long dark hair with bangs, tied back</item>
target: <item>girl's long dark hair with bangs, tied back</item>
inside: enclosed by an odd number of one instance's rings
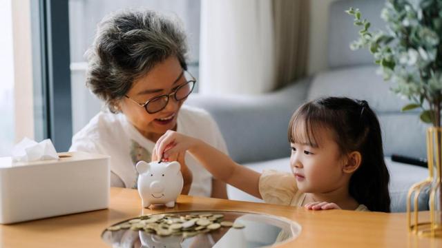
[[[298,128],[305,132],[296,132]],[[384,161],[381,126],[367,101],[327,97],[305,103],[291,116],[289,141],[302,143],[305,137],[310,144],[317,144],[318,128],[334,132],[340,155],[361,152],[361,165],[350,178],[349,194],[370,211],[390,212],[390,174]]]

